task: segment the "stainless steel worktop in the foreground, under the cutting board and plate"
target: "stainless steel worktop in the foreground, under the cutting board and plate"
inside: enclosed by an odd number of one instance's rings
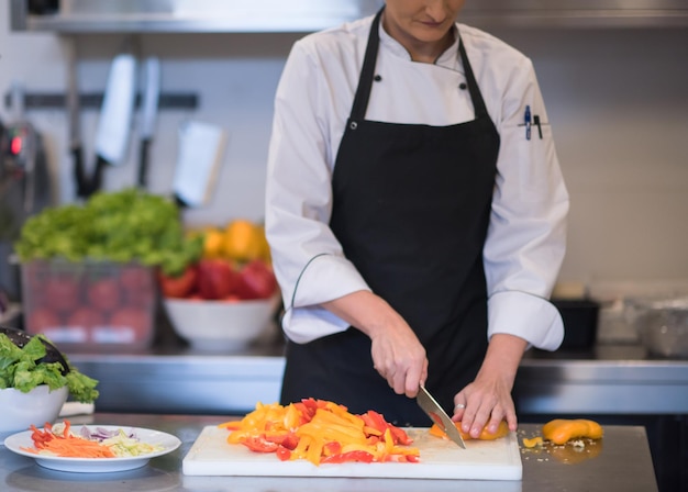
[[[470,492],[653,492],[657,491],[647,438],[643,427],[608,426],[597,455],[522,449],[522,481],[397,480],[397,479],[307,479],[256,477],[187,477],[181,461],[206,425],[223,422],[218,416],[96,414],[71,417],[74,424],[109,424],[154,428],[174,434],[182,445],[176,451],[154,458],[141,469],[119,473],[68,473],[52,471],[31,458],[0,446],[0,490],[52,492],[129,491],[470,491]],[[540,434],[540,426],[526,424],[522,436]],[[576,456],[578,455],[578,456]],[[578,461],[578,459],[581,459]],[[412,465],[409,465],[412,466]]]

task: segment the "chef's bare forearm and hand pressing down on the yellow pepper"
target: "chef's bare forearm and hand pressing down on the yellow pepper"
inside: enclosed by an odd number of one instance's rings
[[[518,426],[511,398],[513,381],[528,343],[513,335],[493,335],[475,381],[454,396],[454,416],[462,431],[477,438],[485,425],[495,434],[501,421]]]

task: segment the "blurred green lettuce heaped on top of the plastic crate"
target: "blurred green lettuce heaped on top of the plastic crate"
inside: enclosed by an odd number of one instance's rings
[[[99,192],[84,205],[48,208],[23,225],[14,249],[22,262],[138,261],[178,275],[202,253],[202,237],[187,237],[177,205],[135,188]]]

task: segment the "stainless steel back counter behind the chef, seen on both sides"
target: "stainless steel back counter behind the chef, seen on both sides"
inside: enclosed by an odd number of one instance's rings
[[[143,354],[69,354],[100,381],[104,412],[243,414],[279,399],[280,344],[236,354],[167,347]],[[514,399],[526,414],[688,414],[688,360],[647,358],[636,346],[529,353]]]

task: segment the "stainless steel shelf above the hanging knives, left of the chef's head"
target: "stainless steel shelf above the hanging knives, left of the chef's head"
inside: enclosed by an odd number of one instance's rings
[[[31,14],[11,0],[13,31],[86,33],[313,32],[377,11],[381,0],[62,0]]]

